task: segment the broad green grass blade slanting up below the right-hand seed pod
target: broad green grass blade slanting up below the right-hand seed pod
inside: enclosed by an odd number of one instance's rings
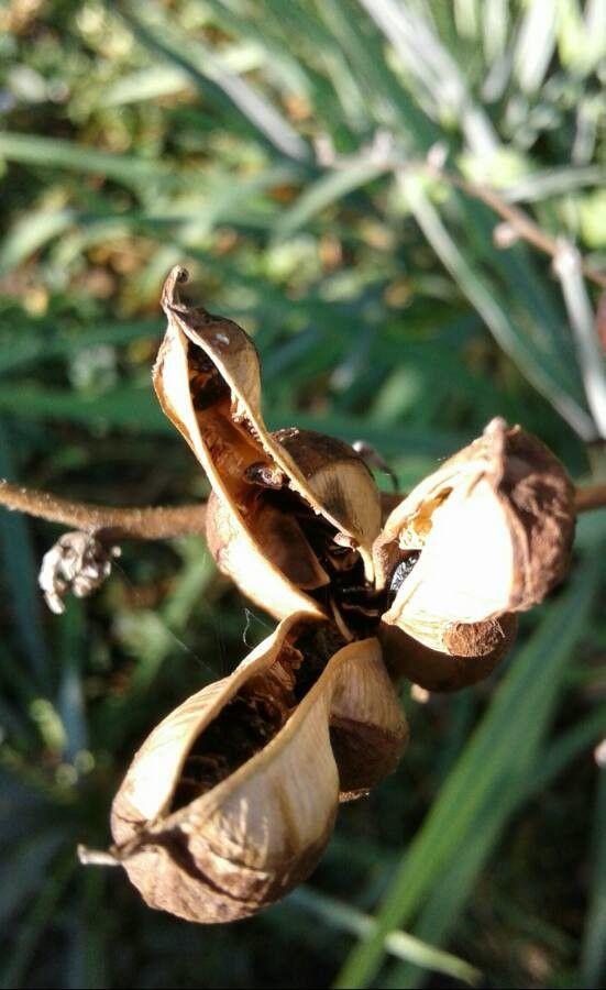
[[[533,766],[562,683],[562,674],[587,615],[601,576],[597,554],[571,580],[527,646],[518,654],[467,744],[426,823],[404,856],[376,916],[377,928],[352,952],[337,987],[365,987],[383,958],[388,931],[407,925],[445,876],[449,902],[459,909],[459,890],[470,889],[516,806],[519,781]],[[455,878],[455,881],[452,878]],[[466,887],[465,887],[466,884]],[[442,928],[451,919],[441,903]],[[433,941],[433,936],[432,936]],[[400,985],[401,986],[401,985]]]

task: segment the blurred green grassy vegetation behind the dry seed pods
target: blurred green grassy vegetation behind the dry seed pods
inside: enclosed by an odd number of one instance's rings
[[[0,19],[0,475],[118,505],[205,495],[150,383],[177,261],[254,334],[272,426],[363,438],[403,490],[497,414],[576,480],[604,473],[583,280],[497,246],[499,218],[426,165],[599,270],[603,0],[12,0]],[[342,810],[309,883],[211,928],[74,850],[107,844],[150,727],[268,620],[197,539],[124,547],[51,616],[35,574],[57,535],[0,515],[3,986],[598,985],[606,510],[491,682],[404,692],[408,754]]]

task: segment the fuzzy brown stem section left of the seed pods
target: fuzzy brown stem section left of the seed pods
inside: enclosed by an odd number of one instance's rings
[[[187,534],[203,534],[206,503],[145,508],[111,508],[70,502],[49,492],[24,488],[0,481],[0,505],[60,522],[102,540],[167,540]]]

